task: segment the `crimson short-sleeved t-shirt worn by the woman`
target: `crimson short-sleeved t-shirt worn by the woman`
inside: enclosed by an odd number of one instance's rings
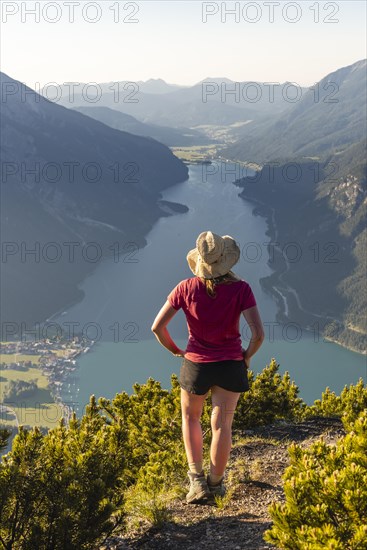
[[[256,306],[246,281],[215,286],[216,297],[208,296],[199,277],[184,279],[167,296],[174,309],[182,308],[189,339],[185,358],[198,363],[240,361],[242,357],[239,321],[241,312]]]

